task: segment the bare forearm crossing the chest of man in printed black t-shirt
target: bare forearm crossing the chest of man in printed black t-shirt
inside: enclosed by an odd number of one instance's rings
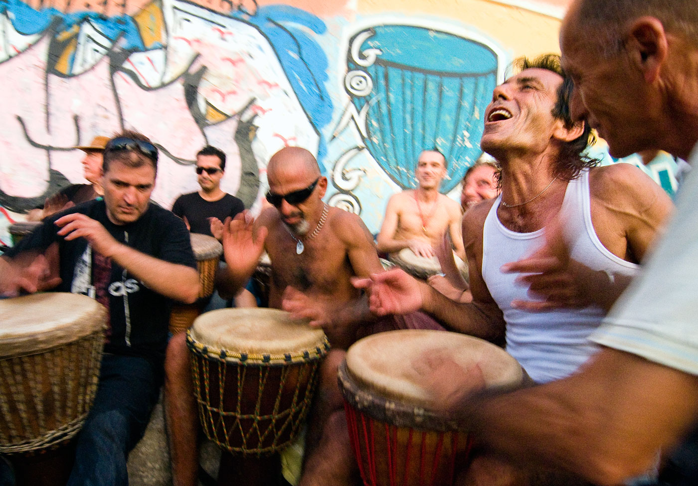
[[[118,243],[112,260],[165,297],[193,303],[199,294],[199,276],[194,268],[173,264]]]

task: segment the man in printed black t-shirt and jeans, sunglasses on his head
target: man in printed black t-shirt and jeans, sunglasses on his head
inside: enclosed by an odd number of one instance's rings
[[[184,223],[149,202],[157,157],[138,133],[111,139],[104,199],[47,218],[0,257],[0,295],[55,289],[91,296],[109,311],[99,386],[77,435],[69,486],[128,485],[128,452],[163,381],[170,302],[192,303],[198,295]],[[58,255],[58,275],[48,271],[47,252]]]

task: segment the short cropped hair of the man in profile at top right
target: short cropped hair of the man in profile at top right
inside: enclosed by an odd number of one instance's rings
[[[588,33],[588,43],[597,54],[608,59],[623,50],[622,28],[625,22],[648,15],[655,17],[664,30],[698,47],[698,1],[696,0],[581,0],[577,3],[580,31]],[[579,24],[578,24],[579,26]]]

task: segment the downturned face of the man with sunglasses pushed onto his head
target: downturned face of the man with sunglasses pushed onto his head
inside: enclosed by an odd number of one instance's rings
[[[147,211],[155,187],[155,168],[150,165],[128,167],[112,161],[102,177],[107,216],[114,225],[134,222]]]

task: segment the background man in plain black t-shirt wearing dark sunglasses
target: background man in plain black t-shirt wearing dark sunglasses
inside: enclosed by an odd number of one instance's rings
[[[225,153],[210,145],[196,154],[196,174],[201,190],[177,198],[172,213],[182,218],[192,233],[220,240],[225,218],[235,218],[245,206],[240,199],[221,190]]]

